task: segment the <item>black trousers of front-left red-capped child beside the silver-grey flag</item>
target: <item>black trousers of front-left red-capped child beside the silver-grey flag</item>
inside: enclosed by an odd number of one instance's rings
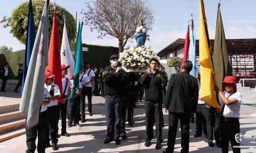
[[[52,105],[48,107],[49,111],[49,128],[47,130],[47,136],[50,136],[48,142],[52,140],[52,143],[58,144],[57,133],[58,133],[58,114],[57,114],[57,105]]]

